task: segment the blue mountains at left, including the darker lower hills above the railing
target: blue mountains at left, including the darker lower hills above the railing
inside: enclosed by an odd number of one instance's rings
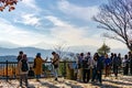
[[[42,57],[45,59],[46,57],[52,57],[52,50],[41,50],[35,47],[18,47],[18,48],[4,48],[0,47],[0,62],[16,62],[16,56],[19,52],[23,51],[29,58],[29,62],[33,62],[36,53],[41,53]]]

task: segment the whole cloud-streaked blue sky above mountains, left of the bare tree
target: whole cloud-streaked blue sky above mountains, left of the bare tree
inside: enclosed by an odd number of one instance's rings
[[[43,48],[45,44],[64,43],[68,46],[89,45],[100,47],[103,43],[92,16],[107,0],[22,0],[15,10],[0,12],[0,41],[21,46]],[[111,48],[125,45],[106,38]]]

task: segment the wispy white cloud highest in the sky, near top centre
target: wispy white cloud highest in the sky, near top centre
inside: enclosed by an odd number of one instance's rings
[[[86,8],[78,7],[69,3],[67,0],[58,1],[58,9],[68,15],[82,19],[85,21],[91,20],[91,18],[99,12],[97,6]]]

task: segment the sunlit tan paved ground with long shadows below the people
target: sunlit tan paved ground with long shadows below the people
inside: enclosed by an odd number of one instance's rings
[[[58,78],[54,81],[53,78],[42,78],[40,81],[29,79],[30,88],[132,88],[132,76],[121,76],[116,79],[113,76],[109,78],[103,77],[102,86],[99,84],[84,84],[75,80]],[[0,80],[0,88],[19,88],[16,79]]]

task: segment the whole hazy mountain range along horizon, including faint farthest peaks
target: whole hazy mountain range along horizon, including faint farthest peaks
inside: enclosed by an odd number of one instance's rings
[[[52,44],[46,44],[44,42],[37,43],[34,45],[30,46],[21,46],[16,45],[10,42],[1,42],[0,41],[0,56],[6,56],[6,55],[14,55],[16,56],[19,54],[19,51],[23,51],[25,54],[28,54],[29,57],[35,57],[36,53],[42,53],[42,57],[51,57],[51,53],[53,52],[53,46]],[[97,52],[99,47],[96,46],[89,46],[89,45],[81,45],[81,46],[68,46],[65,47],[65,52],[73,52],[73,53],[86,53],[86,52],[91,52],[91,55]],[[113,53],[121,53],[122,55],[128,53],[128,50],[123,48],[111,48],[111,52]]]

